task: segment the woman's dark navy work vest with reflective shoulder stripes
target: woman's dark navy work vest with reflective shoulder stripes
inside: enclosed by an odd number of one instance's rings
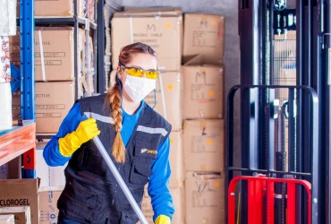
[[[110,152],[115,139],[114,121],[104,100],[105,95],[80,99],[81,115],[96,118],[100,141],[141,207],[144,186],[152,174],[151,164],[157,158],[159,145],[170,134],[171,125],[145,104],[126,146],[125,162],[117,163]],[[138,221],[94,142],[82,144],[73,153],[64,173],[66,185],[57,206],[67,218],[102,224],[106,219],[112,224]]]

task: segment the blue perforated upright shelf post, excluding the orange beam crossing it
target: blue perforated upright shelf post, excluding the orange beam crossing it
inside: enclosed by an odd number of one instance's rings
[[[34,57],[34,2],[20,2],[20,47],[21,47],[21,119],[36,120],[35,57]],[[40,43],[42,44],[42,43]],[[22,176],[36,177],[36,151],[31,149],[23,154]]]

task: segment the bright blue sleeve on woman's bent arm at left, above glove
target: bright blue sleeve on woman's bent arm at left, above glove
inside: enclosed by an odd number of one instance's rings
[[[64,117],[64,121],[60,125],[59,131],[55,134],[43,151],[44,159],[48,166],[57,167],[63,166],[71,157],[64,157],[59,151],[59,139],[63,138],[66,134],[70,134],[76,130],[81,123],[81,106],[75,103],[68,115]]]

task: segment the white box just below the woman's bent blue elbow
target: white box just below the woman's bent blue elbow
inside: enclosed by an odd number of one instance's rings
[[[47,142],[38,142],[36,150],[36,176],[40,178],[40,187],[64,186],[64,166],[49,167],[43,157],[43,151]]]

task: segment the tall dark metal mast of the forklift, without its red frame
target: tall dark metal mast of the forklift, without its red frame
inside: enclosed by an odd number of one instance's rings
[[[295,5],[293,8],[287,7],[290,2]],[[276,58],[274,37],[286,37],[288,30],[295,30],[296,52],[292,66],[296,71],[296,85],[311,87],[318,94],[318,115],[315,115],[318,117],[312,117],[309,93],[300,88],[289,90],[286,101],[287,110],[291,111],[286,117],[286,155],[284,151],[276,151],[280,143],[275,137],[277,90],[245,88],[240,91],[242,144],[236,153],[241,156],[239,174],[254,176],[257,172],[253,170],[267,170],[268,177],[275,177],[273,171],[285,169],[294,174],[292,177],[310,181],[313,206],[307,208],[307,195],[298,187],[296,223],[307,223],[303,214],[311,209],[315,218],[313,224],[331,224],[331,0],[239,0],[238,7],[241,84],[277,84],[275,71],[279,58]],[[318,118],[317,151],[311,151],[313,127],[308,122],[314,118]],[[228,155],[228,168],[238,163],[232,153]],[[288,159],[287,163],[284,158]],[[233,177],[234,172],[228,172],[228,182]],[[242,183],[240,223],[247,223],[246,188]],[[275,223],[284,223],[284,220],[276,219]]]

